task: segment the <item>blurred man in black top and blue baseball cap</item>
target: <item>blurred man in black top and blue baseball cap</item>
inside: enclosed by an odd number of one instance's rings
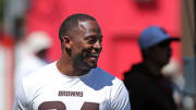
[[[159,26],[148,26],[139,36],[143,62],[125,73],[124,84],[130,93],[132,110],[176,110],[170,82],[161,69],[171,57],[170,37]]]

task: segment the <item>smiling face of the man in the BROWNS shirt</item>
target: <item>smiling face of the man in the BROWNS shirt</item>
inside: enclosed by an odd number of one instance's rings
[[[102,34],[96,21],[78,22],[71,38],[71,59],[76,70],[90,70],[97,66],[102,50]]]

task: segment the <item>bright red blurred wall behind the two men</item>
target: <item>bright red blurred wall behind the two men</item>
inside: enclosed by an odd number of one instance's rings
[[[61,56],[58,38],[61,22],[73,13],[90,14],[97,19],[103,34],[99,66],[123,78],[123,72],[142,60],[137,38],[146,26],[160,25],[172,36],[181,35],[181,0],[136,1],[32,0],[26,15],[26,34],[34,30],[49,33],[53,39],[49,58],[54,61]],[[181,60],[181,44],[172,44],[172,48],[173,58]]]

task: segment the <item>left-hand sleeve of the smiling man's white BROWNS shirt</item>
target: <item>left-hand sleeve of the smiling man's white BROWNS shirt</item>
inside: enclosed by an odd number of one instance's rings
[[[13,110],[30,110],[22,80],[15,85]]]

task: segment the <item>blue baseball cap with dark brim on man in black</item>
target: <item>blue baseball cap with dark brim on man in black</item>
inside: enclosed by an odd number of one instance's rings
[[[142,49],[147,49],[162,41],[173,41],[180,40],[177,37],[171,37],[168,33],[160,26],[148,26],[139,35],[138,45]]]

